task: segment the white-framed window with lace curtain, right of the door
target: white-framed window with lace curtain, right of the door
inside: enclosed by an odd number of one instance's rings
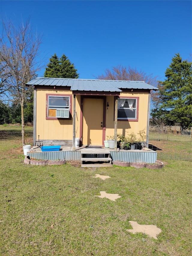
[[[118,119],[137,119],[137,99],[118,99]]]

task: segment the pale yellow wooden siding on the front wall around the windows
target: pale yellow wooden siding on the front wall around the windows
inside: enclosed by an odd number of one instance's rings
[[[52,90],[49,87],[49,90],[44,90],[43,88],[37,89],[37,138],[38,135],[40,135],[40,139],[53,139],[58,138],[60,140],[72,140],[73,138],[73,118],[72,120],[46,120],[46,93],[48,94],[68,94],[70,93],[72,95],[71,91],[63,91],[63,90]],[[121,92],[121,96],[136,96],[139,97],[139,122],[123,122],[119,121],[117,123],[117,133],[121,133],[125,136],[128,135],[127,132],[134,131],[135,133],[138,133],[140,130],[143,130],[147,126],[147,104],[148,104],[148,96],[149,92]],[[86,97],[89,97],[90,95],[86,95]],[[95,97],[98,97],[95,95]],[[102,96],[99,96],[102,97]],[[103,96],[105,97],[105,96]],[[73,98],[73,97],[72,97]],[[81,123],[80,123],[80,114],[81,110],[80,107],[81,101],[80,101],[81,95],[76,95],[76,130],[77,134],[76,137],[82,136],[82,129],[81,129]],[[72,99],[73,100],[73,99]],[[108,110],[106,108],[106,136],[107,135],[114,135],[114,96],[106,95],[106,102],[109,102]],[[73,103],[72,103],[73,104]],[[72,106],[73,108],[73,106]],[[58,124],[59,129],[56,128],[56,133],[58,134],[57,137],[54,136],[53,127],[53,121],[56,121]],[[134,124],[137,123],[137,124]],[[50,131],[52,130],[52,131]],[[107,137],[105,136],[106,139]]]

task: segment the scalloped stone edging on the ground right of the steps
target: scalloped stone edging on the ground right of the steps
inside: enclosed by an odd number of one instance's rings
[[[163,162],[155,161],[155,164],[146,164],[146,163],[129,163],[129,162],[120,162],[113,161],[113,164],[124,167],[135,167],[135,168],[149,168],[149,169],[161,169],[164,167]]]

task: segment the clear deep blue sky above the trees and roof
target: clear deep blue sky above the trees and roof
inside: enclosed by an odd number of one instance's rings
[[[173,56],[190,61],[191,1],[0,1],[0,16],[17,26],[31,16],[43,33],[42,58],[64,53],[79,78],[130,66],[164,80]],[[0,31],[2,26],[0,25]],[[44,76],[45,68],[38,72]]]

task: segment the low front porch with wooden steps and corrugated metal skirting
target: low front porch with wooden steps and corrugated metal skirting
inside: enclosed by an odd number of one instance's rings
[[[157,160],[157,152],[146,150],[109,149],[105,147],[83,146],[76,148],[62,147],[59,151],[42,152],[41,147],[34,146],[27,153],[30,158],[41,160],[80,160],[82,167],[111,167],[113,161],[150,163]]]

